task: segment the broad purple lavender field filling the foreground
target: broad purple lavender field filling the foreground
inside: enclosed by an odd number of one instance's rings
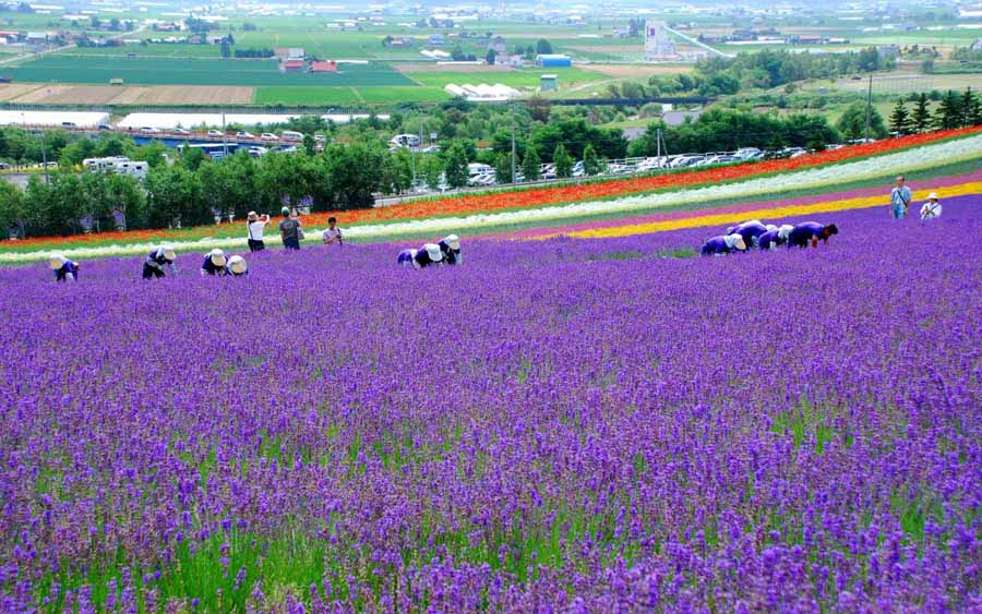
[[[0,270],[0,609],[982,610],[982,210],[944,206]]]

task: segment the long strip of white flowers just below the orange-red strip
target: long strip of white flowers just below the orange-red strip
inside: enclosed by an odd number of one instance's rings
[[[894,154],[875,156],[834,166],[811,168],[770,177],[759,177],[719,185],[682,189],[639,196],[627,196],[607,201],[587,201],[566,205],[546,206],[532,209],[476,214],[455,217],[412,219],[388,224],[366,224],[345,229],[348,239],[383,240],[387,237],[405,234],[439,234],[443,232],[493,228],[538,221],[556,221],[590,215],[638,213],[666,206],[705,203],[729,198],[754,198],[780,196],[791,190],[834,186],[862,179],[883,177],[886,172],[909,172],[926,169],[941,164],[951,164],[972,159],[982,155],[982,135],[925,145]],[[887,200],[884,191],[884,202]],[[320,240],[319,229],[306,229],[306,242]],[[246,238],[203,238],[195,241],[172,242],[179,251],[207,251],[213,248],[229,250],[246,248]],[[130,243],[99,248],[75,248],[62,253],[71,258],[123,256],[148,252],[158,243]],[[35,252],[0,253],[0,263],[24,263],[45,260],[50,250]]]

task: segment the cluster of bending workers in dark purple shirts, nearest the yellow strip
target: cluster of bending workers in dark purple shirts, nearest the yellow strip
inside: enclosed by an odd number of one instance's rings
[[[783,244],[787,244],[789,249],[806,248],[809,243],[813,248],[817,248],[819,239],[828,243],[828,238],[838,233],[839,229],[835,224],[823,225],[817,221],[804,221],[797,225],[775,226],[763,224],[758,219],[751,219],[727,228],[726,234],[708,239],[703,243],[699,253],[704,256],[726,255],[733,252],[745,252],[753,248],[776,250]]]

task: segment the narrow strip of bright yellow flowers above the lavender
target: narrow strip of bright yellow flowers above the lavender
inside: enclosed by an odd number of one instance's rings
[[[982,182],[962,183],[959,185],[950,185],[947,188],[935,188],[932,190],[920,191],[921,196],[926,196],[929,192],[937,192],[941,198],[951,198],[955,196],[968,196],[982,193]],[[650,221],[644,224],[625,224],[622,226],[612,226],[607,228],[595,228],[589,230],[575,230],[572,232],[549,232],[529,237],[529,240],[552,239],[555,237],[570,237],[573,239],[610,239],[614,237],[632,237],[634,234],[649,234],[652,232],[664,232],[669,230],[681,230],[684,228],[702,228],[707,226],[727,226],[738,224],[745,219],[764,218],[776,221],[786,217],[800,217],[821,213],[845,212],[850,209],[864,209],[871,207],[884,207],[884,216],[887,216],[884,206],[884,197],[863,196],[858,198],[847,198],[840,201],[826,201],[810,205],[786,205],[778,207],[767,207],[759,209],[749,209],[742,212],[727,212],[712,215],[697,215],[681,219],[667,219],[662,221]]]

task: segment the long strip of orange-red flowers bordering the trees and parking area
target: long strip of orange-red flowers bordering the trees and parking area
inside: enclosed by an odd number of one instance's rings
[[[460,215],[488,213],[503,209],[532,208],[546,205],[558,205],[577,201],[600,200],[612,196],[636,194],[672,188],[692,186],[703,183],[721,183],[759,177],[764,174],[788,172],[809,167],[830,165],[935,143],[938,141],[963,136],[980,132],[980,128],[946,130],[914,134],[900,139],[890,139],[866,143],[835,151],[809,154],[794,159],[776,159],[743,165],[733,165],[704,170],[692,170],[666,174],[655,174],[628,179],[598,180],[589,183],[566,184],[558,186],[529,188],[502,192],[479,193],[464,196],[450,196],[423,201],[415,201],[390,207],[357,209],[345,212],[325,212],[304,216],[307,226],[326,225],[332,215],[343,216],[345,225],[368,221],[388,221],[397,219],[418,219],[442,215]],[[101,242],[146,242],[155,239],[171,241],[195,240],[203,237],[224,237],[239,231],[239,225],[229,228],[228,224],[203,226],[182,230],[134,230],[122,232],[103,232],[98,234],[80,234],[70,238],[34,238],[22,241],[22,245],[58,242],[63,243],[101,243]]]

